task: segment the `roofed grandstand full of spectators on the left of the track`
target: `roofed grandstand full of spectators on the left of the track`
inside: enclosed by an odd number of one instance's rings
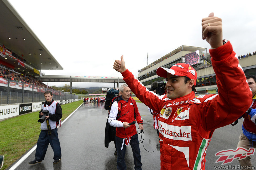
[[[62,66],[8,1],[0,1],[0,11],[0,104],[43,101],[46,90],[55,100],[72,99],[40,81],[41,70]]]

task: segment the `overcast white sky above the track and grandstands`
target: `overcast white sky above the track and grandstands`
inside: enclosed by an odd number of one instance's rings
[[[223,38],[237,55],[256,51],[256,1],[66,1],[9,0],[64,70],[46,75],[118,76],[115,59],[138,70],[174,49],[205,47],[201,19],[222,18]],[[46,82],[47,84],[47,82]],[[49,85],[62,86],[67,83]],[[76,87],[111,84],[72,83]]]

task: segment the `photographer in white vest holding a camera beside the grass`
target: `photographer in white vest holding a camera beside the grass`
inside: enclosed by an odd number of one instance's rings
[[[46,101],[42,106],[42,110],[39,112],[39,118],[41,118],[44,115],[42,112],[43,110],[48,110],[49,115],[45,116],[44,122],[41,123],[41,132],[37,141],[35,160],[30,161],[29,164],[39,163],[44,160],[44,156],[46,154],[49,143],[54,151],[53,164],[58,163],[61,159],[61,149],[60,141],[58,138],[57,125],[61,123],[60,119],[62,117],[62,109],[60,104],[52,99],[53,93],[51,91],[44,92],[44,97]],[[46,120],[49,121],[50,127],[47,127],[48,123],[46,123]]]

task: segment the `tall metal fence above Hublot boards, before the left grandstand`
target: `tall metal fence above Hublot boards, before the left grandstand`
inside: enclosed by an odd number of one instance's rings
[[[44,92],[51,91],[54,100],[78,99],[78,95],[60,92],[24,82],[0,78],[0,104],[29,103],[44,101]]]

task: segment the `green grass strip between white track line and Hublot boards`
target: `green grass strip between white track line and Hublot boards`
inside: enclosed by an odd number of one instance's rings
[[[80,100],[61,105],[61,120],[68,117],[82,103]],[[36,111],[0,122],[0,155],[4,155],[2,169],[8,168],[37,143],[41,131],[38,119],[39,111]]]

